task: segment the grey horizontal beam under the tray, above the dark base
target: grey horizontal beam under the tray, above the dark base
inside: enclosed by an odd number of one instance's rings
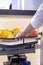
[[[2,48],[0,48],[2,49]],[[12,55],[12,54],[24,54],[24,53],[35,53],[36,49],[40,49],[40,45],[36,44],[33,48],[30,49],[10,49],[10,48],[4,48],[4,50],[0,50],[0,55]],[[16,51],[16,52],[15,52]]]

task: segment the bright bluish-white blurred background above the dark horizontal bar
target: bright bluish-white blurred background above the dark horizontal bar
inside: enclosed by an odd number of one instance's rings
[[[0,9],[37,10],[42,2],[43,0],[0,0]]]

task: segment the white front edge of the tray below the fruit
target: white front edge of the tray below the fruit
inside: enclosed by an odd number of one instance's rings
[[[28,42],[35,42],[37,40],[35,39],[25,39],[25,43],[28,43]],[[2,45],[17,45],[17,44],[22,44],[23,43],[23,40],[20,40],[20,41],[16,41],[16,42],[0,42],[0,44]]]

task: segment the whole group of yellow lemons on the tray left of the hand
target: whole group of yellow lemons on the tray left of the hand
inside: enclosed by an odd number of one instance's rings
[[[17,34],[20,33],[20,28],[14,28],[13,30],[9,31],[8,29],[4,29],[0,33],[1,38],[15,38]]]

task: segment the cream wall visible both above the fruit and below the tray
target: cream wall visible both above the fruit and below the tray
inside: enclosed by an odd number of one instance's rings
[[[22,30],[29,24],[32,16],[0,16],[0,30],[20,27]],[[40,44],[40,41],[38,42]],[[27,60],[31,65],[40,65],[40,48],[36,49],[35,53],[26,54]],[[7,61],[7,56],[0,56],[0,64]]]

